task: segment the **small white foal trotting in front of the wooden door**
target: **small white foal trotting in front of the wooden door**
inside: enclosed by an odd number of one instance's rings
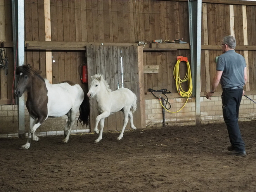
[[[102,140],[102,132],[104,128],[104,121],[110,114],[118,111],[124,113],[124,124],[122,131],[117,138],[121,140],[123,138],[123,133],[125,127],[128,123],[128,117],[130,118],[131,128],[136,130],[137,128],[133,124],[133,114],[132,112],[137,109],[137,97],[127,88],[119,88],[118,90],[111,91],[109,85],[104,80],[102,74],[95,74],[91,76],[92,82],[90,84],[90,90],[87,93],[88,97],[96,97],[98,102],[98,110],[100,115],[95,119],[95,133],[99,134],[99,137],[95,140],[98,143]],[[98,124],[100,122],[100,131],[98,130]]]

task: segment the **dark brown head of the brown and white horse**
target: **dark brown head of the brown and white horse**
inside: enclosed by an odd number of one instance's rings
[[[26,91],[27,88],[31,86],[32,78],[34,76],[39,76],[40,78],[42,78],[39,75],[40,73],[42,73],[42,71],[39,71],[38,69],[31,67],[30,64],[17,67],[16,75],[18,76],[19,80],[18,80],[16,89],[14,91],[15,95],[17,97],[21,97],[23,92]]]

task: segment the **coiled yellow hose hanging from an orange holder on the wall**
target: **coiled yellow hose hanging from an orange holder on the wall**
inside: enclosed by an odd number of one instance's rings
[[[189,61],[187,61],[187,73],[186,73],[184,79],[183,79],[183,80],[180,79],[180,59],[178,59],[178,61],[177,61],[176,64],[175,64],[175,67],[174,67],[174,69],[173,69],[173,77],[174,77],[175,82],[176,82],[176,88],[177,88],[178,93],[179,93],[182,97],[186,97],[186,98],[187,98],[185,104],[183,105],[183,107],[185,107],[185,105],[187,104],[187,101],[189,100],[189,97],[192,95],[192,88],[193,88],[193,85],[192,85],[192,76],[191,76],[191,70],[190,70]],[[183,83],[183,82],[185,82],[185,81],[189,81],[189,90],[188,90],[187,92],[185,92],[185,91],[182,89],[182,86],[181,86],[181,83]],[[161,106],[162,106],[166,111],[168,111],[168,110],[163,106],[160,97],[159,97],[159,101],[160,101]],[[182,110],[183,107],[182,107],[180,110]],[[175,112],[179,112],[180,110],[175,111]],[[168,111],[168,112],[170,112],[170,113],[175,113],[175,112],[172,112],[172,111]]]

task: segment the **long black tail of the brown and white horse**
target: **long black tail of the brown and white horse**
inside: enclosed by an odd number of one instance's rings
[[[90,100],[87,94],[85,93],[85,98],[83,99],[83,102],[81,103],[79,107],[79,117],[77,120],[81,123],[81,125],[89,125],[89,117],[90,117]],[[83,123],[82,123],[83,122]]]

